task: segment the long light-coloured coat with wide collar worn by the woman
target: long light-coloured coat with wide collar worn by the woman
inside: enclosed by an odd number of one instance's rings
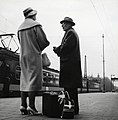
[[[49,45],[41,25],[27,18],[18,29],[20,41],[20,91],[39,91],[42,88],[41,52]]]

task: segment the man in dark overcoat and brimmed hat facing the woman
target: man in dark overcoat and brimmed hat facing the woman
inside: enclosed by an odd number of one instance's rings
[[[82,72],[79,37],[72,26],[73,20],[65,17],[60,22],[65,31],[62,43],[54,47],[54,52],[60,57],[60,77],[59,85],[68,91],[70,97],[75,102],[75,114],[79,113],[78,91],[82,87]]]

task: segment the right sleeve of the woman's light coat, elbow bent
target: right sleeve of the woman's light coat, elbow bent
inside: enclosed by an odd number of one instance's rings
[[[38,45],[39,45],[41,51],[43,51],[50,44],[50,42],[47,40],[47,37],[46,37],[43,29],[41,28],[41,26],[35,26],[34,31],[36,34],[36,39],[37,39]]]

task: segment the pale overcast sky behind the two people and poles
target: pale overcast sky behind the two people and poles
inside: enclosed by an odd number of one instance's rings
[[[105,76],[118,77],[118,0],[0,0],[0,33],[16,34],[28,7],[37,10],[37,21],[50,41],[43,52],[49,56],[51,68],[59,70],[53,46],[60,45],[64,35],[60,21],[68,16],[79,35],[82,74],[86,55],[87,75],[103,77],[104,34]]]

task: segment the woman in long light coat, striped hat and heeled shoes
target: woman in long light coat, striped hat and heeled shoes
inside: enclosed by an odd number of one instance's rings
[[[22,114],[27,112],[39,114],[35,107],[36,91],[42,88],[42,56],[41,52],[49,45],[42,26],[36,22],[37,11],[27,8],[23,11],[25,21],[18,29],[18,39],[20,42],[20,91]],[[27,107],[27,96],[29,106]]]

